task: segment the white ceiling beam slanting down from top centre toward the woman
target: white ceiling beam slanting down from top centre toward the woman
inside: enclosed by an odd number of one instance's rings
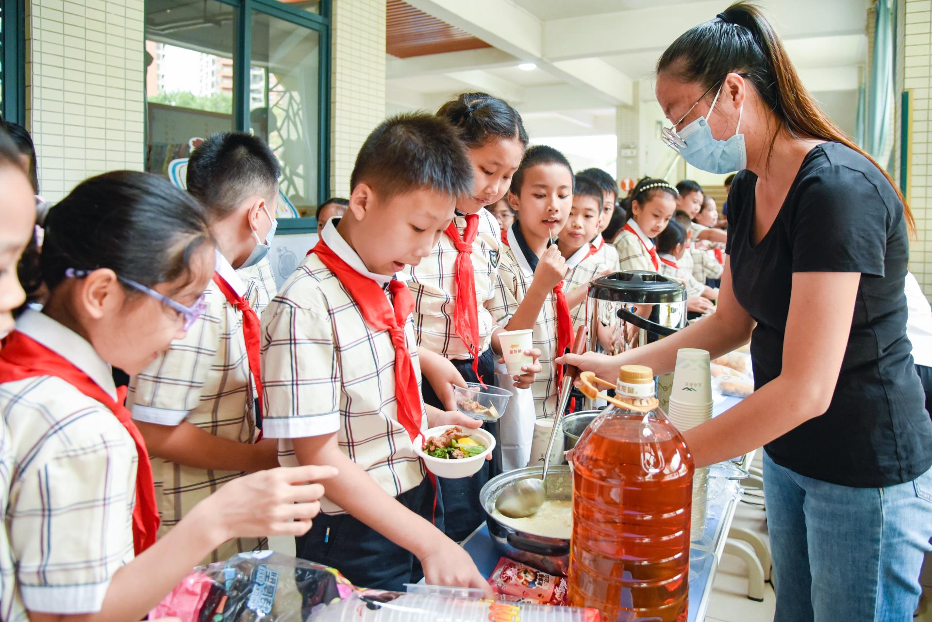
[[[589,90],[608,104],[632,104],[631,80],[609,64],[588,59],[561,67],[551,62],[543,54],[544,24],[508,0],[408,0],[408,4],[511,54],[519,62],[533,62],[551,76]]]

